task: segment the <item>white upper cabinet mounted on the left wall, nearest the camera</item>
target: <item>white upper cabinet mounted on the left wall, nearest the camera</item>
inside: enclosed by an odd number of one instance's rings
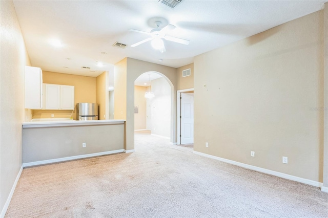
[[[25,108],[42,109],[43,107],[42,70],[25,67]]]

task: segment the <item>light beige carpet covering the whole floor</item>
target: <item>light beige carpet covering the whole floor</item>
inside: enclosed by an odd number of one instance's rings
[[[328,217],[328,193],[136,134],[135,152],[25,168],[9,217]]]

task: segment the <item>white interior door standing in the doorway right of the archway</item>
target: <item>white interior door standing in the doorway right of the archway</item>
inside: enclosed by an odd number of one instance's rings
[[[194,143],[194,93],[181,93],[181,144]]]

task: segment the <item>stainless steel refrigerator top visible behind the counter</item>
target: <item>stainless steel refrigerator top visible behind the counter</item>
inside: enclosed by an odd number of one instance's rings
[[[97,103],[77,103],[76,120],[97,120],[98,104]]]

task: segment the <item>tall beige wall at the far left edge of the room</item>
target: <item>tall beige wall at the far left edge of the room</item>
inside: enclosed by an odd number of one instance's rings
[[[0,211],[22,167],[25,66],[31,66],[12,1],[0,1]]]

